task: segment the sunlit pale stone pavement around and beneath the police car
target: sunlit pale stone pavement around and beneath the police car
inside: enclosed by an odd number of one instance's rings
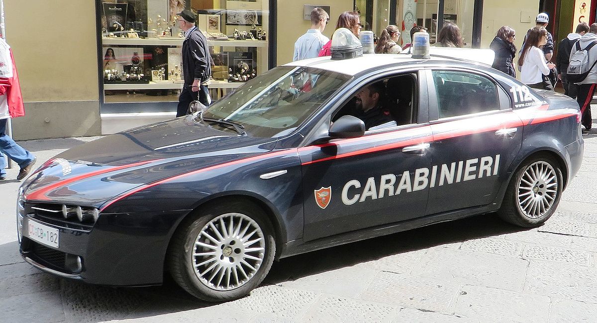
[[[18,254],[17,181],[0,184],[2,322],[595,322],[597,132],[546,225],[493,215],[282,259],[244,299],[210,305],[167,280],[109,288],[63,281]],[[39,164],[95,138],[22,142]],[[18,169],[9,170],[15,178]]]

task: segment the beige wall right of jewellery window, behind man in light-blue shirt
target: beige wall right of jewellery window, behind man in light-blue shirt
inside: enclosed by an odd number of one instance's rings
[[[311,27],[310,20],[304,20],[303,5],[314,2],[278,0],[278,66],[293,60],[294,42]],[[330,6],[330,23],[325,27],[324,35],[331,38],[338,16],[344,11],[352,10],[352,0],[321,0],[317,5]]]

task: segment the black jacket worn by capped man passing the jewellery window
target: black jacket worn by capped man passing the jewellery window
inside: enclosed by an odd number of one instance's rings
[[[211,55],[207,39],[201,30],[195,28],[183,42],[183,75],[187,88],[198,79],[205,82],[211,77]]]

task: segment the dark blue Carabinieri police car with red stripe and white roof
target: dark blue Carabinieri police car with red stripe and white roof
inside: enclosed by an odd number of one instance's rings
[[[22,256],[90,284],[168,273],[217,302],[294,254],[482,213],[549,219],[583,156],[576,101],[457,51],[350,50],[48,160],[19,190]]]

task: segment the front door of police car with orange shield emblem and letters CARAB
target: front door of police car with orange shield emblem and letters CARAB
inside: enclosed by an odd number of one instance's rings
[[[421,91],[420,80],[410,72],[355,84],[338,101],[331,120],[351,110],[345,108],[362,88],[384,82],[396,125],[299,148],[304,241],[424,215],[430,165],[426,147],[432,136],[427,91]]]

